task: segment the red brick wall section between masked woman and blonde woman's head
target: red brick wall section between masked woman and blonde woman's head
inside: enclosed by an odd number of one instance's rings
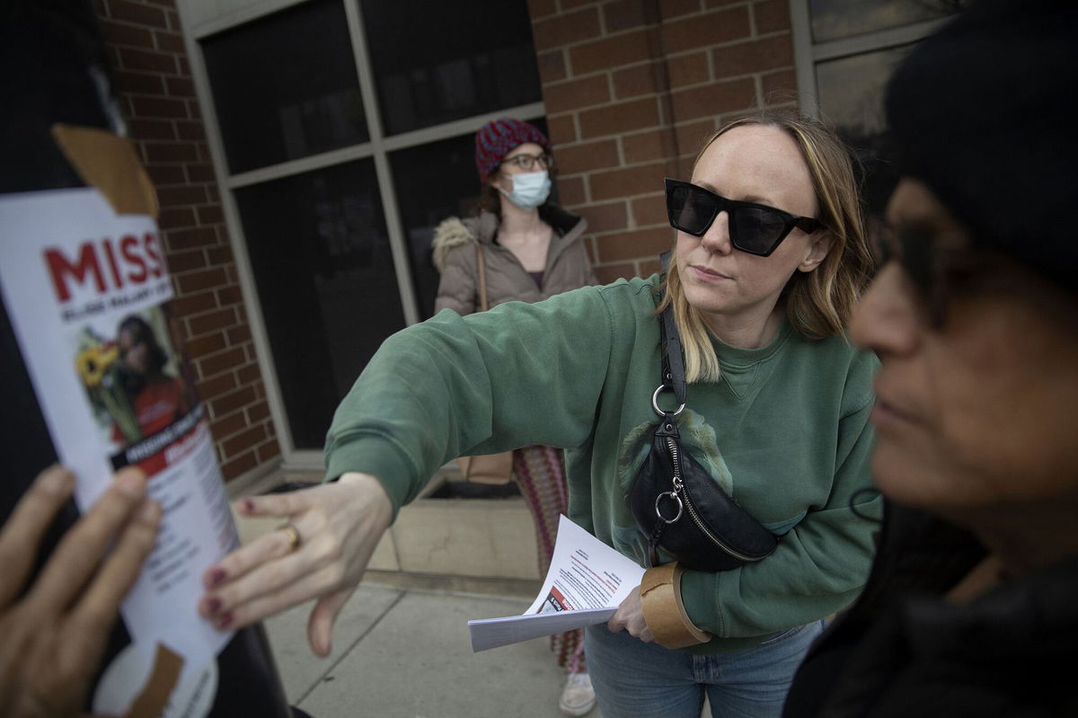
[[[600,280],[673,240],[665,176],[742,112],[797,96],[787,0],[528,0],[558,196],[588,218]]]

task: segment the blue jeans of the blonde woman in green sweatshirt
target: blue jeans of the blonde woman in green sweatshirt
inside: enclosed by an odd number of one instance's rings
[[[713,718],[777,718],[793,673],[823,630],[816,621],[755,648],[693,655],[600,623],[588,627],[584,653],[603,718],[700,718],[705,691]]]

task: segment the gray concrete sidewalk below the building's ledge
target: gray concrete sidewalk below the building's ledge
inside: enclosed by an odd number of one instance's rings
[[[556,718],[565,675],[549,639],[479,653],[468,639],[469,619],[515,616],[529,603],[363,582],[327,659],[307,645],[312,604],[265,625],[289,702],[313,718]]]

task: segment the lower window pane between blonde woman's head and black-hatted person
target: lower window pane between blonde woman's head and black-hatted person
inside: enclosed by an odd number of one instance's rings
[[[897,179],[886,148],[884,87],[895,66],[913,45],[819,63],[816,66],[820,114],[865,165],[862,194],[872,212],[882,213]]]

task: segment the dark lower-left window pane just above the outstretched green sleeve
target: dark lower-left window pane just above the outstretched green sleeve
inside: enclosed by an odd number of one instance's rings
[[[235,195],[293,441],[321,448],[337,403],[404,327],[374,163]]]

